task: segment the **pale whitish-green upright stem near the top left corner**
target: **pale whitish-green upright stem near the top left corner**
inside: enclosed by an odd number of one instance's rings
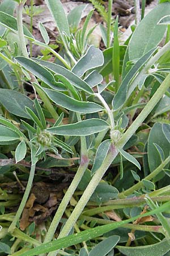
[[[23,6],[24,3],[21,2],[17,8],[17,26],[18,26],[18,36],[20,49],[22,50],[23,56],[28,57],[27,47],[25,44],[24,31],[23,31]]]

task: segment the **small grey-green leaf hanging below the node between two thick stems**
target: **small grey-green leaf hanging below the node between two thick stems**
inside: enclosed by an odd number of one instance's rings
[[[111,146],[111,140],[107,139],[106,141],[101,142],[101,144],[97,148],[94,165],[91,170],[91,176],[94,175],[95,172],[100,168],[101,164],[103,163],[104,159],[108,154],[110,146]]]

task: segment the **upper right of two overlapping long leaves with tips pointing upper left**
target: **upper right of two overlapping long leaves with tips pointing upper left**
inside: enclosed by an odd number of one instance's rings
[[[85,81],[80,79],[73,72],[67,70],[66,68],[63,68],[62,66],[51,63],[49,61],[37,60],[37,59],[34,59],[34,60],[39,61],[41,65],[45,66],[50,71],[66,77],[71,82],[71,84],[73,84],[76,88],[80,90],[84,90],[87,93],[94,94],[94,91],[90,88],[90,86]]]

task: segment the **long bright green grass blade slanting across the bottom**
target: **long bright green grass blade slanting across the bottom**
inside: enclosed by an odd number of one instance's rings
[[[159,209],[155,209],[155,210],[151,210],[150,212],[144,213],[142,216],[149,216],[151,214],[155,214],[158,212],[163,212],[165,210],[169,209],[169,202],[168,203],[164,203],[163,205],[161,205],[159,207]],[[27,251],[26,253],[23,253],[22,256],[33,256],[33,255],[39,255],[42,253],[48,253],[49,251],[54,251],[54,250],[58,250],[58,249],[62,249],[65,247],[69,247],[71,245],[75,245],[78,244],[82,241],[87,241],[87,240],[91,240],[92,238],[95,237],[99,237],[104,233],[107,233],[113,229],[116,229],[118,227],[120,227],[121,225],[127,224],[129,222],[132,222],[134,220],[136,220],[137,218],[141,217],[141,215],[135,216],[133,218],[130,218],[128,220],[124,220],[124,221],[116,221],[112,224],[107,224],[107,225],[103,225],[103,226],[97,226],[96,228],[92,228],[90,230],[85,230],[83,232],[77,233],[77,234],[73,234],[67,237],[63,237],[60,238],[58,240],[54,240],[52,242],[49,243],[45,243],[44,245],[41,246],[37,246],[36,248],[33,248],[29,251]],[[165,240],[167,241],[167,240]],[[160,244],[162,245],[162,244]],[[166,246],[169,246],[169,241],[167,241],[167,243],[165,243]],[[120,246],[117,246],[120,247]],[[124,246],[122,246],[124,247]],[[143,246],[140,246],[140,249]],[[125,247],[127,248],[127,247]],[[162,249],[162,246],[158,247],[159,249]],[[170,246],[168,247],[169,250]],[[130,249],[135,249],[135,247],[130,247]],[[143,256],[143,254],[139,254],[140,250],[137,251],[137,254],[134,255],[138,255],[138,256]],[[166,253],[167,251],[165,251]],[[160,250],[159,250],[160,253]],[[133,255],[133,254],[128,254],[129,256]],[[144,254],[145,255],[145,254]],[[152,255],[152,251],[150,250],[150,254],[148,254],[148,256]],[[154,254],[154,256],[160,256],[163,254]],[[147,256],[147,254],[146,254]]]

